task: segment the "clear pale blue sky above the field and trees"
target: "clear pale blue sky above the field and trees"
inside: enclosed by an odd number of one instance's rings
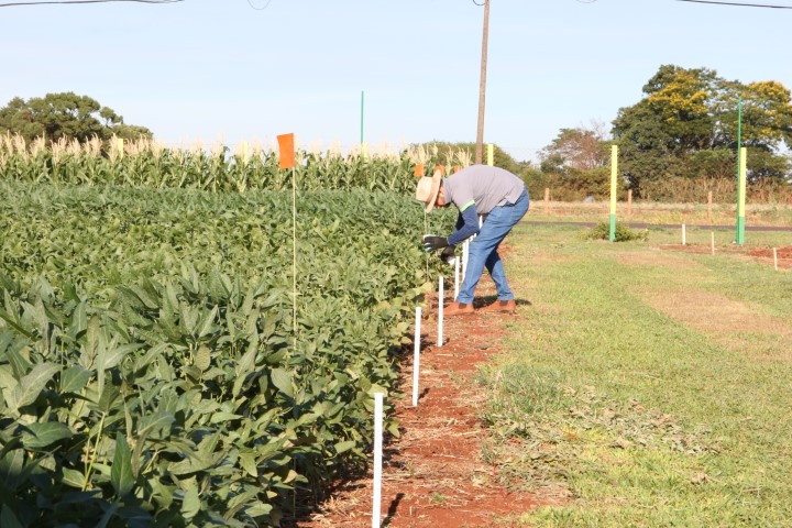
[[[372,148],[475,141],[483,13],[473,0],[0,8],[0,107],[74,91],[170,145],[294,132],[350,148],[364,92]],[[792,10],[491,0],[484,140],[534,160],[560,129],[609,130],[663,64],[791,88],[790,28]]]

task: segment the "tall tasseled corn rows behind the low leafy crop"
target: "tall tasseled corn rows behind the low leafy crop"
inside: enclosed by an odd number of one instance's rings
[[[464,150],[438,152],[422,146],[400,152],[298,150],[300,189],[366,189],[411,193],[416,165],[471,164]],[[276,150],[251,146],[231,151],[223,145],[170,148],[141,140],[79,144],[44,139],[26,144],[19,136],[0,135],[0,174],[6,179],[56,185],[121,185],[211,191],[277,190],[290,188],[290,173],[278,169]]]

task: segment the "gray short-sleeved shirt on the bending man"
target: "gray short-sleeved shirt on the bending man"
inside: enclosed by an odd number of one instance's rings
[[[515,204],[525,190],[520,178],[499,167],[471,165],[443,180],[446,200],[463,212],[475,204],[479,215],[505,204]]]

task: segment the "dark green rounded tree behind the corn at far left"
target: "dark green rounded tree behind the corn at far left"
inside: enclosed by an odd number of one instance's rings
[[[47,94],[28,101],[13,98],[0,108],[0,133],[20,134],[26,141],[41,135],[58,141],[62,138],[86,142],[94,136],[107,140],[152,139],[152,132],[123,122],[123,118],[95,99],[74,92]]]

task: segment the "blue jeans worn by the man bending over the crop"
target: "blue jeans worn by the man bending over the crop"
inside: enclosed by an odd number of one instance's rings
[[[506,273],[497,249],[512,231],[512,228],[528,212],[529,205],[528,193],[522,191],[515,204],[496,207],[490,212],[481,231],[470,243],[468,268],[459,295],[457,295],[458,302],[465,305],[473,302],[473,294],[485,266],[495,282],[498,300],[514,299],[514,294],[506,282]]]

